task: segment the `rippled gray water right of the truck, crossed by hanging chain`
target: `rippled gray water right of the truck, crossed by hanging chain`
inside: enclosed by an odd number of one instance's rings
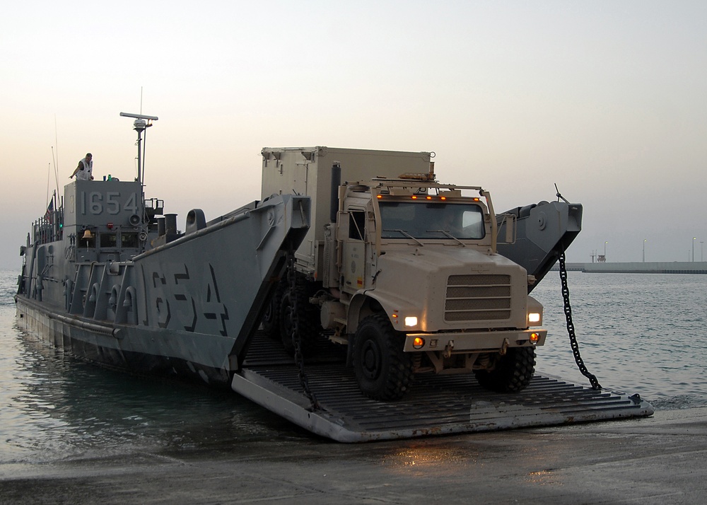
[[[638,393],[658,409],[707,405],[707,275],[568,272],[582,359],[604,388]],[[558,272],[532,296],[548,330],[537,370],[588,384],[575,365]]]

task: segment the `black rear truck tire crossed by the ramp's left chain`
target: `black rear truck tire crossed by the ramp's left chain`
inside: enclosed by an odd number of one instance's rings
[[[296,296],[297,312],[293,311]],[[286,287],[280,301],[279,310],[280,337],[285,350],[294,354],[295,346],[292,343],[293,321],[297,321],[298,337],[300,339],[300,349],[303,354],[311,354],[316,347],[317,337],[322,332],[320,315],[317,307],[309,303],[309,293],[307,281],[300,275],[296,277],[296,288],[294,294],[289,287]]]

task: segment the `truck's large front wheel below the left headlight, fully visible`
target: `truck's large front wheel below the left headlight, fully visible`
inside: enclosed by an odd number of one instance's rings
[[[354,340],[354,373],[361,392],[373,400],[397,400],[410,389],[412,357],[382,314],[361,321]]]

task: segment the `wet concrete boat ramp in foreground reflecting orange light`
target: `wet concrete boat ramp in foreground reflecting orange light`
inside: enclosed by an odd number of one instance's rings
[[[315,436],[0,465],[0,503],[707,501],[707,408],[430,439]]]

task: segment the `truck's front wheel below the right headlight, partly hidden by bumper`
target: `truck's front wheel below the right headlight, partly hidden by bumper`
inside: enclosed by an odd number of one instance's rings
[[[518,393],[525,389],[535,373],[535,348],[510,347],[498,356],[493,370],[475,370],[481,387],[496,393]]]

